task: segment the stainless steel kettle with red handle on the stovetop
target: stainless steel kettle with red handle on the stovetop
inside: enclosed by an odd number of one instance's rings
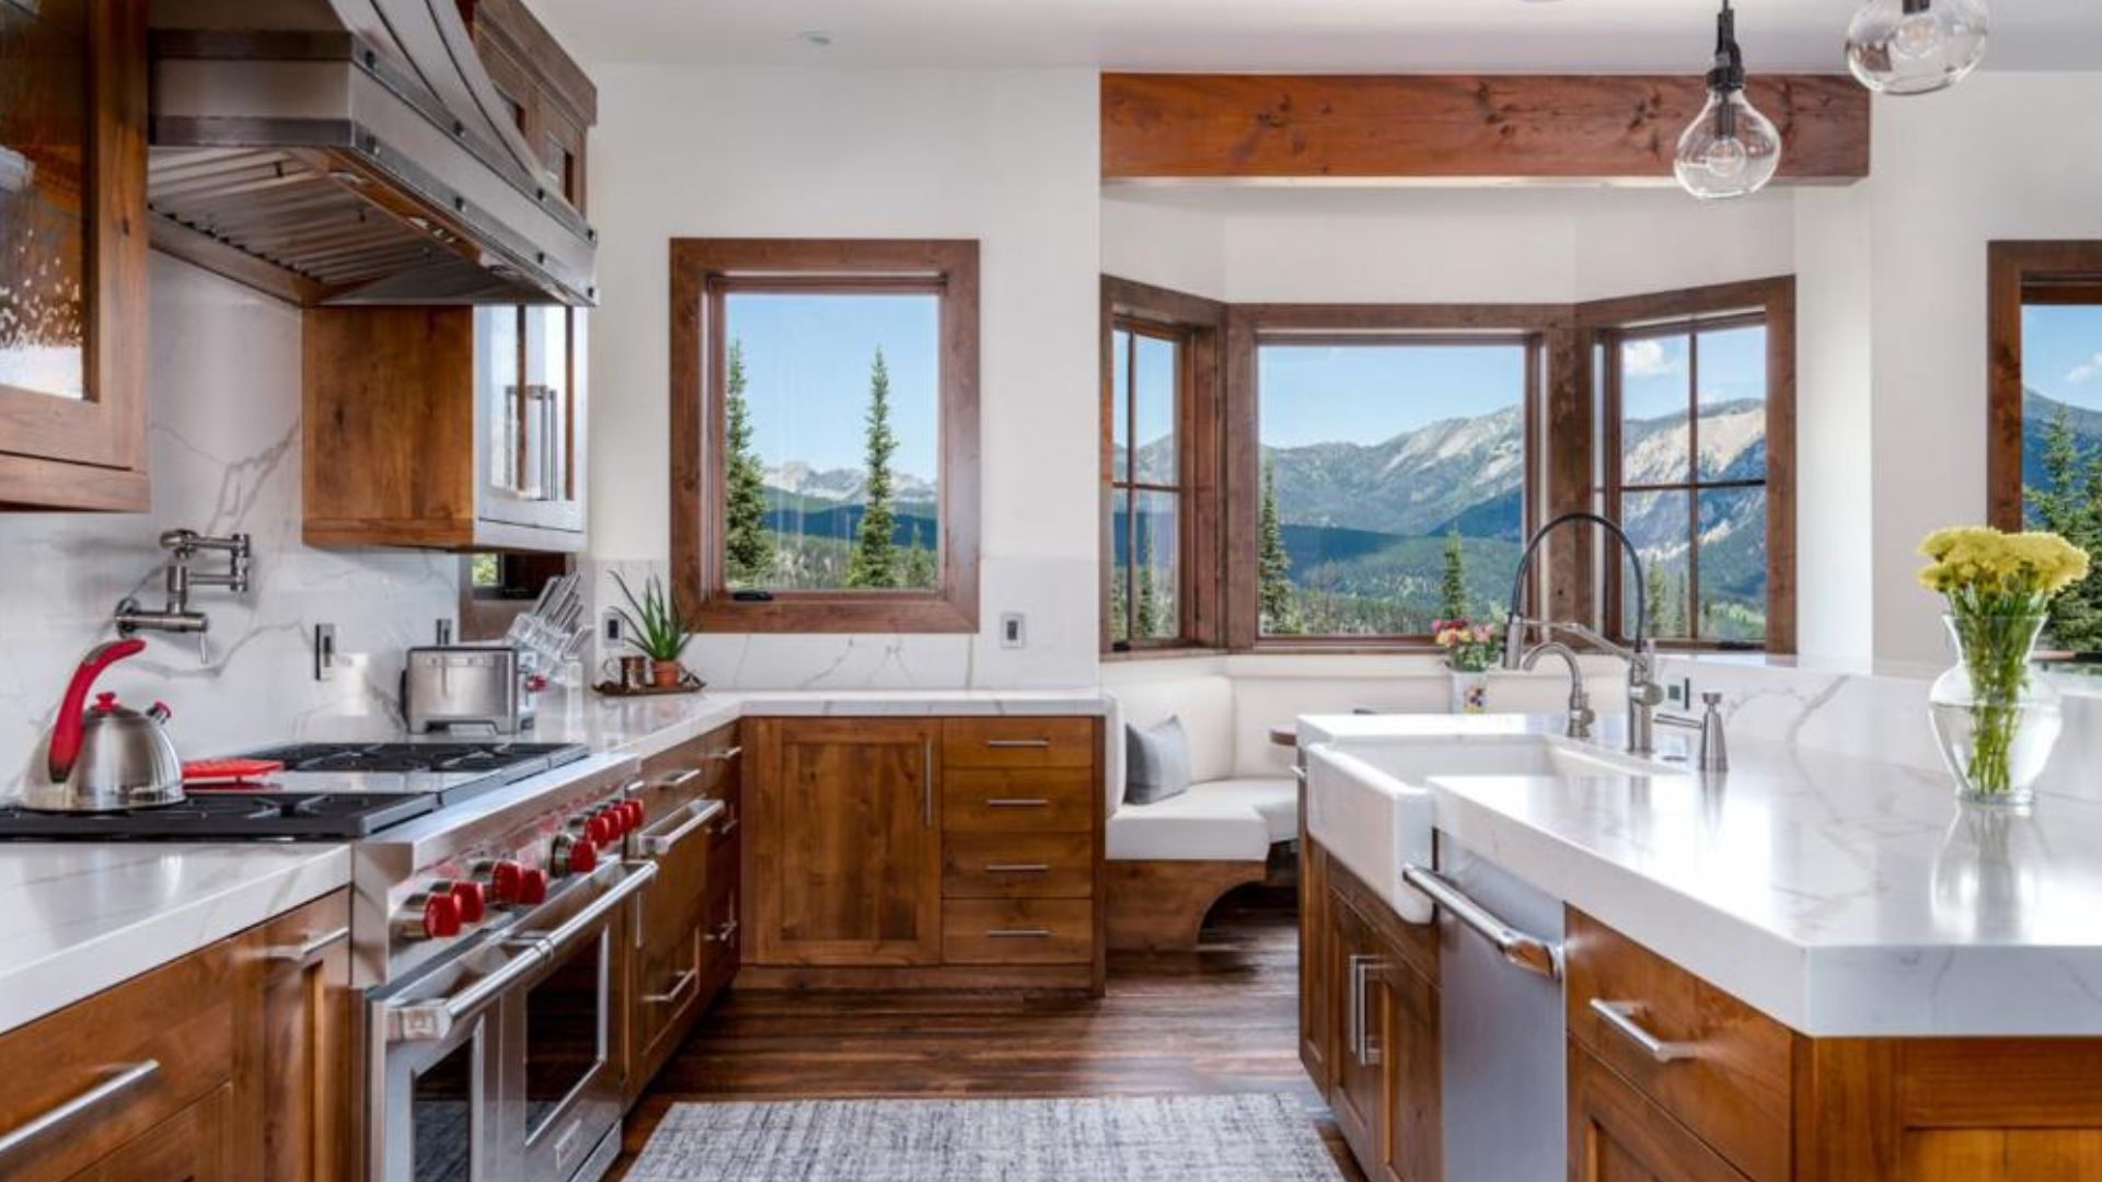
[[[109,665],[145,650],[143,639],[109,641],[74,671],[59,719],[29,768],[23,808],[38,812],[118,812],[183,799],[183,759],[168,738],[168,707],[135,711],[116,694],[88,690]]]

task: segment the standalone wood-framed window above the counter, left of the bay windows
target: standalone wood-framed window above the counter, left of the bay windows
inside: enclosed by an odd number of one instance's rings
[[[675,238],[671,395],[702,629],[977,631],[977,242]]]

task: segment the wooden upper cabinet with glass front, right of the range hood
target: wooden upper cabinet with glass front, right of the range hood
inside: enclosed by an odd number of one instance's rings
[[[305,315],[307,545],[584,549],[582,309]]]

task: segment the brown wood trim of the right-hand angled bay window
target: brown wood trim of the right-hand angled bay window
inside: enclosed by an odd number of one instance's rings
[[[1576,307],[1591,345],[1671,332],[1673,328],[1728,328],[1766,324],[1766,641],[1757,648],[1772,654],[1793,654],[1795,620],[1795,278],[1745,280],[1677,292],[1604,299]],[[1604,398],[1598,419],[1604,452],[1604,511],[1619,515],[1621,486],[1621,402],[1614,366],[1608,360],[1602,381]],[[1694,393],[1698,398],[1698,393]],[[2020,440],[2020,427],[2016,429]],[[2020,463],[2020,456],[2016,456]],[[1684,488],[1707,488],[1688,473]],[[1690,492],[1692,496],[1692,492]],[[1604,566],[1602,616],[1612,635],[1621,635],[1621,562]],[[1698,585],[1696,585],[1698,587]],[[1658,648],[1707,652],[1711,641],[1671,639]]]

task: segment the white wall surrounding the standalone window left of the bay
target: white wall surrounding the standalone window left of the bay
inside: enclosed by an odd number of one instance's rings
[[[977,238],[977,637],[704,635],[723,686],[1074,686],[1097,650],[1097,90],[1085,69],[595,69],[591,553],[668,555],[666,240]],[[1026,650],[998,646],[1028,614]]]

